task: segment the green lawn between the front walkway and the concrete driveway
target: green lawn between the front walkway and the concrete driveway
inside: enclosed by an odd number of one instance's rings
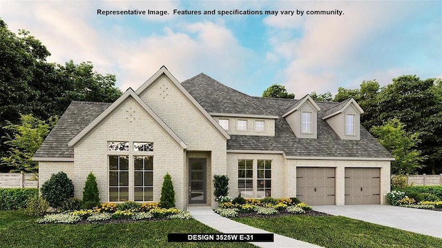
[[[233,219],[239,223],[323,247],[441,247],[442,245],[441,238],[414,234],[343,216]]]

